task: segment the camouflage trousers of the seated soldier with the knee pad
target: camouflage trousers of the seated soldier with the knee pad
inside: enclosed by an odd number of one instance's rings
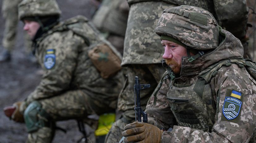
[[[85,119],[91,114],[115,111],[108,105],[93,100],[82,90],[67,91],[59,96],[39,101],[42,109],[50,115],[45,127],[28,133],[27,143],[50,143],[54,137],[55,122],[68,119]],[[38,117],[40,117],[38,115]],[[85,120],[84,120],[85,121]]]

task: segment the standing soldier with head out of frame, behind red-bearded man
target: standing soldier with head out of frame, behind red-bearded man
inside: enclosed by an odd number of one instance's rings
[[[245,37],[248,13],[246,0],[236,2],[227,0],[127,0],[127,2],[130,10],[121,65],[128,69],[128,81],[119,95],[117,105],[118,109],[123,112],[123,117],[112,125],[109,132],[115,134],[115,139],[118,138],[118,140],[122,137],[120,131],[124,131],[124,125],[135,120],[134,77],[138,76],[141,83],[151,85],[150,88],[143,89],[141,92],[141,107],[144,110],[150,95],[165,71],[161,64],[162,46],[158,42],[158,36],[154,33],[155,25],[165,8],[178,5],[202,7],[214,13],[214,16],[219,18],[223,26],[232,26],[232,31],[236,32],[238,37]]]

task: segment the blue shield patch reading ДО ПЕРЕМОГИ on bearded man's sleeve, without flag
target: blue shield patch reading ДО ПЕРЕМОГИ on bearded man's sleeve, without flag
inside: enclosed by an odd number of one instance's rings
[[[236,98],[226,97],[223,105],[223,115],[228,119],[234,119],[238,116],[242,102]]]

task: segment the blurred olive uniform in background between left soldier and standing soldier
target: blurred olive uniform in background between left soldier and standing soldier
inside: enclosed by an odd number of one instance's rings
[[[92,19],[95,27],[121,54],[124,51],[128,13],[129,6],[126,0],[104,0]]]

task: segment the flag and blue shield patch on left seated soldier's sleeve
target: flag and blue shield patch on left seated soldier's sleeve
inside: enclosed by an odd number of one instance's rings
[[[45,60],[44,60],[44,64],[46,69],[51,69],[54,67],[55,65],[55,50],[51,49],[51,50],[47,50],[46,51],[46,55],[45,55]]]

